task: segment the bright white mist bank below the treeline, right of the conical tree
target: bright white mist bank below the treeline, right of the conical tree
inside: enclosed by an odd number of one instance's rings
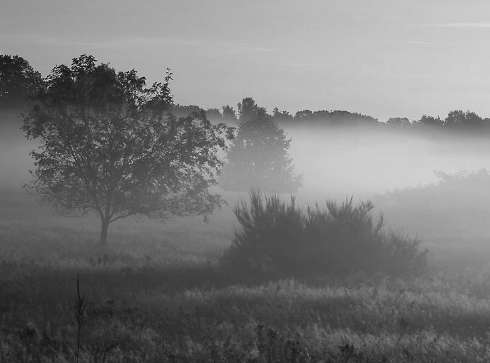
[[[288,132],[304,175],[299,194],[373,195],[437,182],[434,172],[490,167],[486,138],[429,138],[378,129],[305,128]]]

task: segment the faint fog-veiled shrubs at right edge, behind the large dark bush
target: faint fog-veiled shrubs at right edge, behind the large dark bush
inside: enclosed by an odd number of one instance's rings
[[[437,175],[438,183],[377,195],[375,203],[392,225],[404,225],[422,237],[488,236],[489,171]]]

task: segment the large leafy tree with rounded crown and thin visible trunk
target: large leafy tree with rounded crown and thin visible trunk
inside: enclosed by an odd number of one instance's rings
[[[23,126],[41,144],[28,188],[59,213],[97,213],[101,244],[110,223],[131,215],[210,214],[223,202],[208,188],[231,129],[204,113],[170,115],[170,73],[147,88],[136,71],[95,62],[83,55],[56,66],[36,96]]]

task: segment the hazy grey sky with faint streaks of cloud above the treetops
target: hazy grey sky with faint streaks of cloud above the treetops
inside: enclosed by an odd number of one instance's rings
[[[175,103],[490,116],[487,0],[3,0],[0,51],[174,74]]]

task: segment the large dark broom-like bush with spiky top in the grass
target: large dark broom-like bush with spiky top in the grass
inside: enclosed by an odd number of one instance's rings
[[[427,265],[420,241],[383,230],[383,218],[372,218],[370,202],[302,210],[291,198],[252,190],[250,206],[240,202],[235,215],[241,230],[225,251],[224,267],[256,277],[316,273],[347,275],[355,271],[414,274]]]

